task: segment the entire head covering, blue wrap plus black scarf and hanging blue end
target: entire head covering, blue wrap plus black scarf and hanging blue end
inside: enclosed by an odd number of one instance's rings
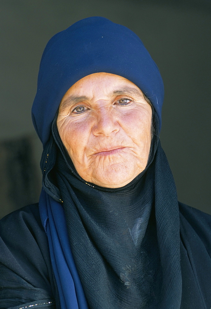
[[[96,72],[129,79],[155,109],[147,167],[122,188],[81,179],[55,126],[64,93]],[[32,117],[43,142],[39,208],[62,308],[180,307],[178,201],[158,139],[162,102],[159,70],[124,26],[99,17],[84,19],[46,46]]]

